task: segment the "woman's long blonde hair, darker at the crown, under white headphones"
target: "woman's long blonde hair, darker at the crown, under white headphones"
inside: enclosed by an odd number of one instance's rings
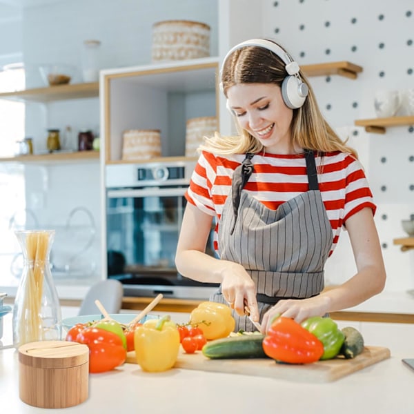
[[[275,83],[282,86],[282,81],[288,76],[286,64],[270,50],[260,46],[246,46],[235,50],[223,64],[221,86],[227,97],[228,88],[239,83]],[[293,110],[291,137],[294,147],[315,150],[319,153],[341,151],[349,152],[357,158],[357,152],[346,145],[324,119],[319,110],[315,94],[302,73],[300,77],[309,88],[304,105]],[[215,152],[222,155],[243,154],[246,152],[261,152],[264,146],[239,127],[235,119],[239,135],[221,136],[217,132],[207,138],[199,150]]]

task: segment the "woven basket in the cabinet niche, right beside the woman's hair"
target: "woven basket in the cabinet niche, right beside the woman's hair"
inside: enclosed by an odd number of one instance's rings
[[[186,124],[186,157],[197,157],[197,148],[203,143],[204,137],[213,137],[216,131],[216,117],[188,119]]]

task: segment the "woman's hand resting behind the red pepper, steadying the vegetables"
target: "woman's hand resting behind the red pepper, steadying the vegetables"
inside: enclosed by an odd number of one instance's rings
[[[308,317],[323,316],[328,312],[331,299],[326,295],[318,295],[308,299],[282,299],[270,308],[262,320],[262,333],[266,333],[268,328],[277,316],[290,317],[295,322],[301,323]]]

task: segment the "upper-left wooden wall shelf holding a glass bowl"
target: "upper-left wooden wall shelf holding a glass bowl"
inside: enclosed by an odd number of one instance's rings
[[[50,86],[49,88],[35,88],[0,93],[0,99],[40,103],[92,97],[99,97],[99,82],[74,83],[73,85],[69,83],[68,85]]]

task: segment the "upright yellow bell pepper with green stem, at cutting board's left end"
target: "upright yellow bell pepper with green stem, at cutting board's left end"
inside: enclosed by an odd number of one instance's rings
[[[144,371],[157,373],[174,366],[179,351],[177,325],[170,316],[148,319],[134,334],[137,363]]]

